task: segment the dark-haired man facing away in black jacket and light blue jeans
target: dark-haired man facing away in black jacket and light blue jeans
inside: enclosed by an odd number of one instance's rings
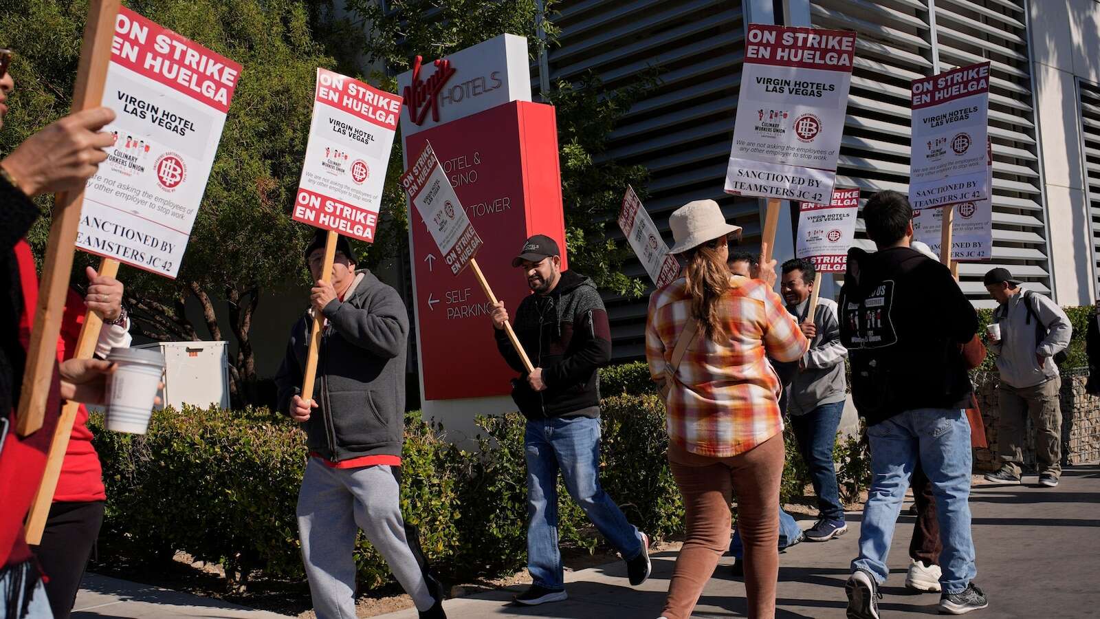
[[[878,251],[848,251],[840,289],[840,340],[851,359],[851,397],[867,421],[871,488],[859,556],[845,586],[850,619],[878,619],[887,553],[917,458],[932,481],[943,542],[939,611],[988,606],[974,583],[970,534],[970,379],[963,346],[978,315],[946,267],[909,247],[913,210],[898,192],[867,200],[864,221]]]

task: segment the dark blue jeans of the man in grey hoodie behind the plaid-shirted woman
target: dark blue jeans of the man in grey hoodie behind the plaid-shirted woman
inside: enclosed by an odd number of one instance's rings
[[[791,415],[791,428],[817,495],[817,511],[822,518],[840,521],[844,520],[844,506],[836,484],[833,446],[843,413],[844,401],[840,401],[822,404],[803,415]]]

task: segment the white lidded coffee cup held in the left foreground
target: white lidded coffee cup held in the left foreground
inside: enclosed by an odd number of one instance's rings
[[[142,348],[112,348],[107,360],[118,365],[107,379],[107,430],[145,434],[164,373],[164,355]]]

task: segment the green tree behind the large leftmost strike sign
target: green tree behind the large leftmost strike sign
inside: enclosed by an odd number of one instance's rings
[[[238,344],[232,389],[254,400],[250,340],[262,291],[305,278],[301,253],[312,228],[289,218],[301,173],[312,109],[315,70],[337,62],[310,31],[318,4],[296,0],[133,0],[131,9],[243,65],[221,145],[177,280],[123,267],[128,306],[138,333],[154,339],[199,339],[184,308],[202,308],[215,339]],[[15,50],[15,93],[0,153],[68,112],[87,14],[86,1],[8,0],[0,41]],[[47,207],[47,197],[40,198]],[[32,230],[36,253],[48,220]],[[92,257],[78,252],[79,269]],[[74,282],[82,275],[75,274]]]

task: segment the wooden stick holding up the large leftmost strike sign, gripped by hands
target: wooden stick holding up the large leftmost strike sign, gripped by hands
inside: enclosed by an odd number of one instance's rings
[[[119,273],[119,261],[113,258],[105,258],[99,262],[99,274],[113,278]],[[102,330],[103,319],[95,312],[84,314],[84,326],[80,327],[80,337],[76,340],[74,359],[90,359],[96,354],[96,344],[99,343],[99,332]],[[38,491],[34,495],[34,502],[31,503],[31,511],[26,514],[26,543],[36,546],[42,542],[42,532],[46,529],[46,518],[50,515],[50,506],[54,502],[54,491],[57,490],[57,479],[62,475],[62,464],[65,461],[65,450],[68,449],[69,437],[73,435],[73,423],[76,421],[76,413],[80,409],[79,402],[68,401],[62,408],[62,417],[57,421],[54,430],[54,439],[50,444],[50,455],[46,457],[46,471],[38,484]]]

